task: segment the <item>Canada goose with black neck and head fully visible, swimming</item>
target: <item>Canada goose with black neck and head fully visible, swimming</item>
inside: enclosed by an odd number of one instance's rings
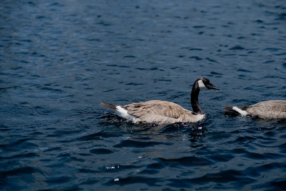
[[[113,109],[117,115],[125,119],[131,120],[134,123],[143,122],[196,122],[201,120],[205,113],[200,108],[198,103],[198,94],[203,89],[219,90],[216,86],[210,83],[207,78],[198,78],[192,87],[191,105],[192,111],[182,108],[180,105],[161,100],[151,100],[140,103],[132,103],[124,106],[116,106],[110,103],[100,103],[101,106]]]

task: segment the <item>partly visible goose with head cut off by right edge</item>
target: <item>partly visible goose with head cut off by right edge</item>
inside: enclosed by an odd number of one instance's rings
[[[225,105],[223,109],[242,116],[257,116],[264,119],[286,118],[286,101],[284,100],[263,101],[241,107]]]

